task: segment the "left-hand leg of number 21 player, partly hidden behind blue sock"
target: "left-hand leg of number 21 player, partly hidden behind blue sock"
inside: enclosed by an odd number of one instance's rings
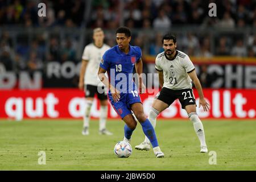
[[[154,128],[156,125],[156,117],[158,117],[159,113],[167,107],[168,104],[164,103],[163,101],[155,100],[153,102],[150,113],[148,114],[148,120]],[[145,136],[144,141],[141,144],[135,146],[135,149],[146,151],[150,150],[150,140]]]

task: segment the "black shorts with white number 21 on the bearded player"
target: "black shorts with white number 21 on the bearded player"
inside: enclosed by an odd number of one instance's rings
[[[172,90],[168,88],[162,88],[162,90],[156,95],[156,98],[170,106],[177,98],[180,101],[182,109],[185,109],[187,105],[196,104],[195,96],[192,89]]]

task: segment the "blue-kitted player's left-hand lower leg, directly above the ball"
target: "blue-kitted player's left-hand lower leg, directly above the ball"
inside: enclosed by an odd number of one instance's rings
[[[133,131],[136,129],[137,122],[134,120],[131,114],[128,114],[125,117],[123,117],[123,121],[125,122],[125,137],[123,137],[123,140],[125,142],[130,143],[131,135],[133,134]]]

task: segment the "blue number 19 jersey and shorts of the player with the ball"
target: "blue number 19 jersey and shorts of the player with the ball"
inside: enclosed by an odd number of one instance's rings
[[[121,118],[131,114],[131,105],[141,102],[137,86],[133,81],[134,64],[141,59],[141,48],[129,46],[127,55],[118,46],[106,51],[102,57],[100,67],[108,72],[110,84],[120,92],[120,100],[115,102],[112,94],[108,94],[110,103]]]

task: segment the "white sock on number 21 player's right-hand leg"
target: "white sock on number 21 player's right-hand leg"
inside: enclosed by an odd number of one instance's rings
[[[194,125],[194,129],[196,131],[197,137],[200,140],[201,146],[207,146],[207,144],[205,143],[204,127],[198,115],[196,114],[196,112],[192,112],[188,114],[188,117]]]

